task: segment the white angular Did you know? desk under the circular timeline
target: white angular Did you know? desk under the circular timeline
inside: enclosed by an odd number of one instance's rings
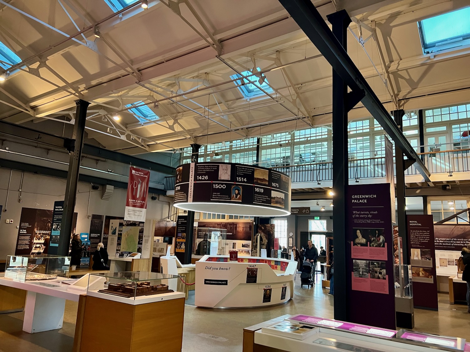
[[[247,308],[287,302],[294,294],[297,262],[287,259],[205,255],[196,261],[195,305]]]

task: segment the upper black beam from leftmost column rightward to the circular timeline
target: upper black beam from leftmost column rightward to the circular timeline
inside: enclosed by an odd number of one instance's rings
[[[152,171],[159,171],[166,175],[174,176],[176,173],[176,168],[172,168],[171,166],[160,164],[154,161],[149,161],[146,159],[136,158],[132,155],[118,153],[113,150],[100,148],[94,145],[84,144],[83,153],[88,155],[99,156],[107,160],[122,162],[127,165],[137,166],[139,168],[146,168]]]

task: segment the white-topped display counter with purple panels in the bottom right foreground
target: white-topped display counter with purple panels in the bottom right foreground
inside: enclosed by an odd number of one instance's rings
[[[381,329],[300,314],[283,315],[243,329],[243,352],[338,350],[470,351],[470,344],[458,337]]]

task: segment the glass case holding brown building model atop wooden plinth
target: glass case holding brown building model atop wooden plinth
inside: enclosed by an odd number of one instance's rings
[[[184,283],[180,278],[178,275],[144,271],[90,274],[87,294],[93,291],[111,296],[136,299],[141,296],[148,297],[164,293],[184,293]]]

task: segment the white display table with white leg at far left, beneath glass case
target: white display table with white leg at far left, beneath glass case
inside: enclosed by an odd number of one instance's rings
[[[77,302],[80,295],[86,292],[76,290],[67,291],[70,285],[56,282],[54,280],[19,282],[4,277],[0,277],[0,301],[4,298],[17,295],[17,298],[10,303],[10,309],[16,305],[21,307],[21,300],[24,304],[23,331],[30,334],[40,331],[61,329],[63,324],[63,314],[65,310],[65,300]],[[26,303],[24,303],[26,297]],[[8,301],[6,302],[8,305]],[[0,304],[1,305],[1,304]],[[7,306],[8,309],[8,306]]]

